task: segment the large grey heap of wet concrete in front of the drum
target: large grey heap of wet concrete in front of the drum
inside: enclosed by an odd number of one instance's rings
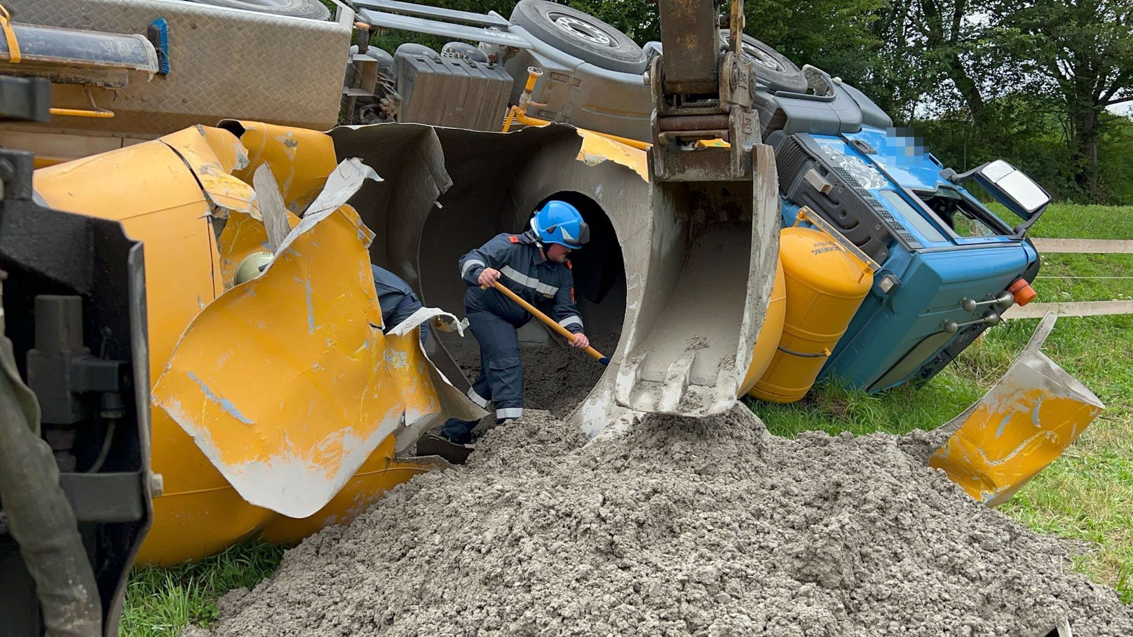
[[[1133,635],[1065,546],[891,435],[767,434],[743,407],[586,444],[545,411],[312,536],[216,636]]]

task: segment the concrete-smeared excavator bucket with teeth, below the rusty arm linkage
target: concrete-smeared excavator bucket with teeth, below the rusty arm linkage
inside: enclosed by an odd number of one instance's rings
[[[638,321],[617,371],[619,405],[680,416],[735,404],[770,303],[778,186],[770,147],[753,179],[651,179],[653,231]]]

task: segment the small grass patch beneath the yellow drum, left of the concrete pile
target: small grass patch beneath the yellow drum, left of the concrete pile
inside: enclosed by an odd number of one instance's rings
[[[195,563],[169,569],[140,567],[130,574],[119,635],[165,637],[194,623],[216,621],[216,600],[253,587],[279,566],[283,549],[252,540]]]

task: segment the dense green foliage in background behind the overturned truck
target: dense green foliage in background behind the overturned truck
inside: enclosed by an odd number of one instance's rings
[[[421,0],[510,16],[516,0]],[[646,0],[564,0],[659,39]],[[722,11],[726,7],[722,7]],[[1133,2],[1128,0],[746,0],[746,32],[798,65],[862,88],[946,164],[1004,158],[1057,199],[1133,204]],[[440,48],[390,32],[374,43]]]

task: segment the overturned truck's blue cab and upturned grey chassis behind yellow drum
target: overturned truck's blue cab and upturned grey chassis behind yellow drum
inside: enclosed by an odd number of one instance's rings
[[[90,3],[70,0],[9,5],[17,18],[45,26],[95,19]],[[101,91],[121,102],[119,114],[78,117],[82,111],[74,108],[53,128],[8,125],[0,129],[0,142],[35,151],[42,164],[222,118],[330,126],[331,104],[341,102],[348,122],[497,130],[504,119],[504,129],[560,121],[639,148],[650,143],[653,97],[642,76],[662,53],[661,42],[638,46],[610,25],[546,0],[523,0],[510,18],[386,0],[355,6],[357,15],[342,6],[334,22],[320,22],[165,1],[128,10],[111,3],[99,12],[97,26],[145,31],[157,42],[147,69],[156,77],[130,85],[122,68],[105,69],[112,60],[99,60],[86,76],[69,71],[82,82],[70,77],[58,83],[58,101],[80,104],[90,99],[96,104],[92,91]],[[163,22],[147,22],[159,14]],[[342,49],[353,20],[479,45],[451,42],[436,52],[404,44],[391,54],[363,44],[361,51],[355,45],[347,54]],[[181,28],[186,25],[191,37]],[[255,29],[257,39],[288,32],[292,41],[307,44],[309,54],[287,65],[271,61],[262,51],[245,51],[247,37],[231,37],[240,29]],[[134,48],[144,45],[117,37]],[[723,42],[727,29],[719,37]],[[1039,258],[1025,231],[1049,202],[1041,187],[1003,161],[957,175],[923,152],[917,139],[895,134],[891,118],[853,86],[813,67],[800,69],[755,37],[744,34],[741,40],[743,59],[755,63],[752,107],[760,136],[778,159],[784,226],[794,224],[798,210],[807,206],[875,265],[849,324],[792,325],[812,334],[802,350],[793,351],[820,357],[803,365],[809,370],[821,363],[817,373],[769,377],[753,396],[794,400],[827,376],[867,391],[922,383],[998,323],[1003,312],[1033,298],[1030,283]],[[247,63],[223,68],[233,57]],[[170,73],[172,58],[179,63]],[[343,61],[347,82],[340,86],[329,69]],[[67,63],[73,69],[76,62]],[[114,82],[95,83],[95,71]],[[198,90],[204,77],[214,88]],[[305,93],[295,94],[296,86]],[[97,108],[86,114],[113,113]],[[1012,227],[991,213],[962,186],[968,180],[1023,222]],[[777,375],[774,370],[772,375]]]

